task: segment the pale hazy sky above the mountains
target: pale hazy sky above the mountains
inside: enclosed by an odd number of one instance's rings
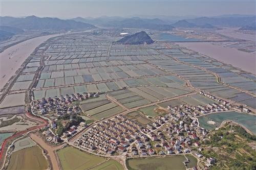
[[[195,15],[216,16],[223,14],[255,14],[255,1],[230,0],[155,0],[155,1],[1,1],[1,16],[50,16],[60,18],[130,16],[130,15]]]

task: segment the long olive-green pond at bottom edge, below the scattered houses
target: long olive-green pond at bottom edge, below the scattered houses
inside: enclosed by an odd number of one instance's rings
[[[192,168],[197,165],[197,159],[193,156],[188,157],[190,163],[187,164],[188,168]],[[126,160],[128,169],[133,170],[181,170],[186,169],[182,163],[185,161],[183,155],[168,156],[168,157],[156,157],[156,158],[133,158]]]

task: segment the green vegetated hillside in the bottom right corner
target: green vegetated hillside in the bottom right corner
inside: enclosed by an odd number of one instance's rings
[[[256,136],[243,128],[231,125],[209,134],[210,139],[202,143],[202,154],[217,159],[212,169],[256,169],[256,151],[251,148]]]

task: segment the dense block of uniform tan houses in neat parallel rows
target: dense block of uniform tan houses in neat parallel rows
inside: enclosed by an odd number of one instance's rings
[[[92,127],[77,139],[75,144],[87,150],[103,151],[109,154],[123,153],[143,131],[145,128],[137,122],[118,115]]]

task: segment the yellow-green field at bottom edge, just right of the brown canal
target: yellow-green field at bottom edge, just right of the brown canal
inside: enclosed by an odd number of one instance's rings
[[[105,158],[90,155],[73,147],[57,151],[63,170],[87,169],[105,161]]]

